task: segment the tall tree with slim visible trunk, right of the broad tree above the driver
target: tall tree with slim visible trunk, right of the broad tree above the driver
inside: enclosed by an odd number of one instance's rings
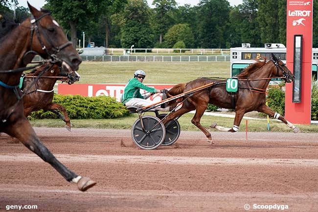
[[[177,3],[175,0],[154,0],[152,4],[155,5],[154,28],[159,32],[159,44],[161,44],[163,35],[173,25],[173,14]]]

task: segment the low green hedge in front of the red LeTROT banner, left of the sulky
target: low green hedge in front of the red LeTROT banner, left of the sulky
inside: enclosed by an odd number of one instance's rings
[[[53,102],[63,105],[71,119],[101,119],[128,116],[126,107],[109,96],[86,97],[81,95],[55,94]],[[58,118],[52,112],[43,110],[32,112],[32,118]]]

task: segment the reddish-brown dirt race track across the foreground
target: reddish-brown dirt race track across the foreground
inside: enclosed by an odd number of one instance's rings
[[[182,132],[175,145],[141,150],[129,130],[35,130],[64,165],[97,185],[77,190],[2,134],[0,211],[244,212],[249,204],[251,212],[318,212],[318,134],[249,133],[246,141],[244,132],[212,132],[210,146],[203,133]]]

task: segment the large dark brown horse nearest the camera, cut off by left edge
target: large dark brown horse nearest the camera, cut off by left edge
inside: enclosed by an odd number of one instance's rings
[[[81,177],[60,163],[42,144],[23,114],[20,76],[35,54],[68,70],[78,70],[82,62],[68,42],[63,29],[50,14],[29,5],[31,18],[21,24],[0,26],[0,132],[19,139],[28,149],[52,165],[67,181],[84,191],[96,183]]]

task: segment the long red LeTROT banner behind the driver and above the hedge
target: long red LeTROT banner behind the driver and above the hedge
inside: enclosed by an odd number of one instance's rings
[[[121,95],[125,89],[126,84],[58,84],[58,94],[79,94],[83,96],[100,96],[106,95],[115,97],[117,101],[120,101]],[[145,84],[149,87],[156,89],[169,89],[174,85],[172,84]],[[141,94],[147,93],[140,89]],[[150,97],[151,100],[161,101],[161,94],[154,94]]]

